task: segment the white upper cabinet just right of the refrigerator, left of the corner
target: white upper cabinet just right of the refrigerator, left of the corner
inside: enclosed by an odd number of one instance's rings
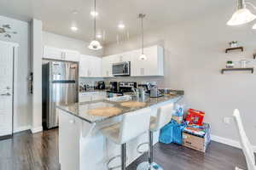
[[[102,77],[102,59],[80,55],[79,77]]]

